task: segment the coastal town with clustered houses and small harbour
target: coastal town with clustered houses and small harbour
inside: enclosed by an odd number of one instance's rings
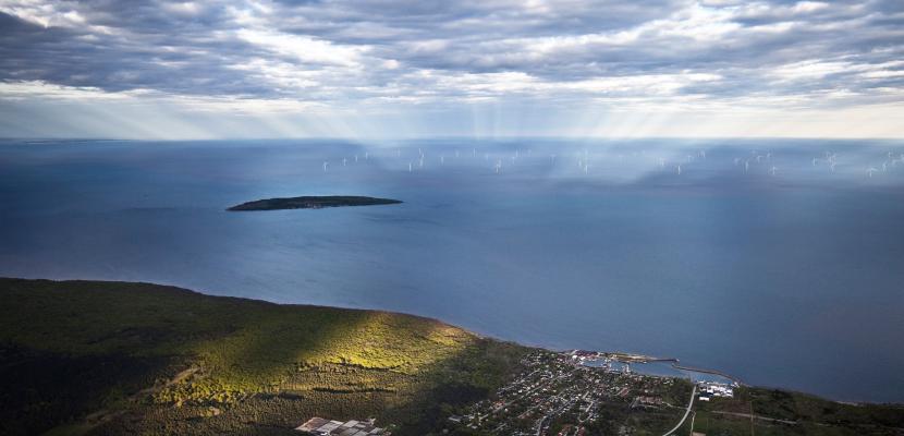
[[[689,380],[635,374],[609,361],[587,365],[590,353],[537,351],[490,400],[450,421],[477,434],[536,436],[661,435],[683,422],[697,391]],[[709,386],[706,396],[730,392]]]

